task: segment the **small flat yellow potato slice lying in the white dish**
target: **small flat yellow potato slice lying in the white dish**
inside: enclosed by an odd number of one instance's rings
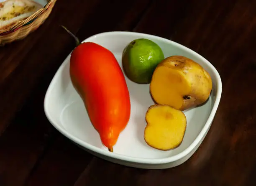
[[[187,126],[182,111],[168,105],[152,105],[146,113],[146,122],[144,140],[149,146],[170,150],[182,143]]]

